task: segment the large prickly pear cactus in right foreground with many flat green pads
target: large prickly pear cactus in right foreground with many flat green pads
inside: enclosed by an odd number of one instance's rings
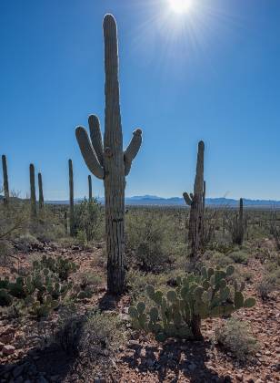
[[[230,316],[242,307],[253,307],[254,298],[245,298],[238,286],[228,283],[234,266],[224,270],[203,268],[201,274],[177,278],[175,290],[155,291],[146,286],[146,294],[155,303],[148,312],[145,303],[129,307],[133,326],[152,332],[159,341],[168,337],[201,339],[201,320],[215,316]]]

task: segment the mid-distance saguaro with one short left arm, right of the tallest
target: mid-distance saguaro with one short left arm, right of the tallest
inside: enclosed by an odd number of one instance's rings
[[[204,157],[205,143],[204,141],[200,141],[198,143],[194,193],[188,194],[185,192],[183,194],[185,203],[191,207],[188,240],[190,245],[190,258],[193,261],[199,252],[204,231]]]

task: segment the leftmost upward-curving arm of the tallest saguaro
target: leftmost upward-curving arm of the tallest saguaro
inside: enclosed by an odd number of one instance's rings
[[[95,177],[103,180],[105,177],[104,168],[100,165],[93,145],[91,144],[85,128],[78,127],[75,129],[75,137],[78,141],[80,150],[84,157],[88,169],[95,174]]]

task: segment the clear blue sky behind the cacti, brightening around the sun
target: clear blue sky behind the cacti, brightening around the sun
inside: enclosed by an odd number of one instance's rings
[[[191,191],[205,140],[208,196],[280,200],[279,0],[193,0],[184,15],[168,0],[0,0],[11,189],[28,192],[33,162],[45,199],[67,198],[71,158],[75,197],[87,193],[75,126],[95,113],[104,128],[105,13],[118,24],[125,145],[144,131],[126,195]]]

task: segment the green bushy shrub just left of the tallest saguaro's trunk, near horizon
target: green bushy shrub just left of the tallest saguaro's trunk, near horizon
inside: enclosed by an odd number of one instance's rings
[[[84,234],[87,242],[100,240],[103,235],[102,209],[97,200],[87,201],[86,199],[75,205],[75,229]]]

